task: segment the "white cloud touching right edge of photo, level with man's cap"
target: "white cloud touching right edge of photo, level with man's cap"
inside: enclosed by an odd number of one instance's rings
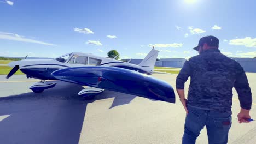
[[[256,38],[246,37],[244,39],[232,39],[229,41],[230,45],[243,45],[246,47],[256,47]]]

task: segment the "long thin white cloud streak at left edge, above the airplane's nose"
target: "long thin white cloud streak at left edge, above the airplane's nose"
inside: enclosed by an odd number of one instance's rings
[[[25,38],[24,36],[14,34],[14,33],[0,32],[0,39],[7,39],[7,40],[14,40],[14,41],[23,41],[23,42],[27,42],[27,43],[37,43],[37,44],[43,44],[43,45],[56,46],[54,44],[45,43],[43,41],[28,39],[28,38]]]

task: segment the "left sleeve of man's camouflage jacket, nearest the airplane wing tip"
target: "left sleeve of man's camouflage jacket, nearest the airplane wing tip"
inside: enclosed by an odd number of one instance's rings
[[[189,76],[191,75],[191,67],[189,61],[185,61],[181,71],[176,78],[176,88],[177,89],[184,89],[185,82],[188,80]]]

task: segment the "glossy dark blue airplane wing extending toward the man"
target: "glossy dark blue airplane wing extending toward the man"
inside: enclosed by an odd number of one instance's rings
[[[56,70],[51,75],[79,85],[175,103],[175,93],[171,85],[132,70],[103,66],[73,67]]]

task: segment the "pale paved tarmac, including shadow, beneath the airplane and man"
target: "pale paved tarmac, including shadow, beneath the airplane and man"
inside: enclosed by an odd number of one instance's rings
[[[154,74],[175,89],[177,74]],[[256,119],[256,74],[247,73]],[[39,80],[0,75],[0,143],[181,143],[185,111],[176,104],[104,91],[93,100],[78,97],[80,85],[57,81],[36,94],[28,87]],[[189,80],[185,85],[188,92]],[[228,143],[255,143],[256,122],[237,122],[240,103],[234,90]],[[206,128],[196,143],[208,143]]]

